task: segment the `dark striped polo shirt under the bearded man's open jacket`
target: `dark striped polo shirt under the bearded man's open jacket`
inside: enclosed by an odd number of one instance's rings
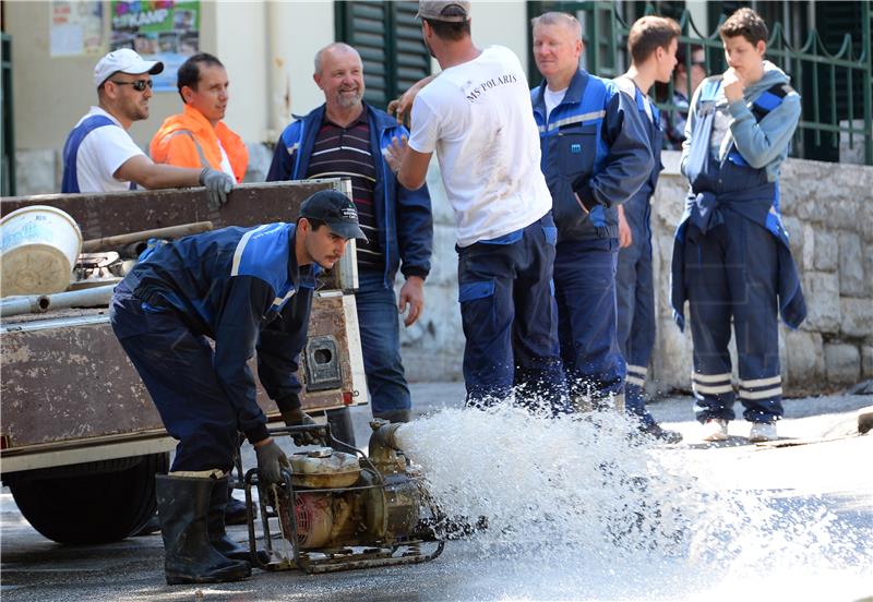
[[[358,267],[382,270],[385,256],[379,243],[379,227],[373,207],[375,161],[370,152],[370,121],[367,110],[346,128],[337,125],[324,113],[315,134],[307,178],[350,178],[351,200],[358,209],[358,221],[367,242],[357,241]]]

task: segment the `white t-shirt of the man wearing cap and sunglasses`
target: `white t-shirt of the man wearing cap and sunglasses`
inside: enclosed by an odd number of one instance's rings
[[[118,124],[104,125],[92,130],[79,146],[75,169],[81,192],[120,192],[130,189],[130,182],[116,180],[112,173],[124,161],[136,155],[145,155],[136,146],[121,123],[99,107],[92,107],[88,113],[79,120],[82,123],[88,117],[101,115]],[[76,125],[79,125],[76,123]]]

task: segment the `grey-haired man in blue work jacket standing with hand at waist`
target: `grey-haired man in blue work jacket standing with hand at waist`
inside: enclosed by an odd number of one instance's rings
[[[530,97],[558,226],[554,294],[567,385],[579,409],[623,409],[617,206],[650,177],[654,161],[633,100],[579,68],[581,36],[570,14],[534,19],[534,60],[545,82]]]

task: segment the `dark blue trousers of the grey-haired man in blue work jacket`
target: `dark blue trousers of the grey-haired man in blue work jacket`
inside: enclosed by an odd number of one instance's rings
[[[625,364],[617,338],[617,239],[562,241],[554,260],[558,337],[573,396],[624,393]]]

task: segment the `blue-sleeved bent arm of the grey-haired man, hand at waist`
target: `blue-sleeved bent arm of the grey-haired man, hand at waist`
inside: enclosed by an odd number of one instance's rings
[[[573,183],[585,210],[612,207],[630,198],[651,174],[655,159],[639,111],[626,94],[615,91],[607,104],[602,136],[609,146],[603,169]]]

